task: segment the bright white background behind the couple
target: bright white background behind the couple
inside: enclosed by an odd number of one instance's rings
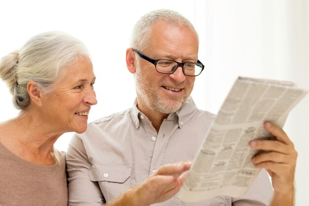
[[[195,80],[196,105],[217,113],[237,76],[289,80],[309,90],[309,1],[307,0],[27,0],[0,1],[0,57],[31,36],[58,30],[88,47],[97,76],[98,104],[89,121],[130,107],[135,98],[125,49],[134,23],[159,8],[176,10],[195,26],[199,60],[206,65]],[[18,111],[0,82],[0,121]],[[284,130],[299,153],[296,205],[308,205],[309,97],[290,113]],[[55,147],[66,151],[72,134]]]

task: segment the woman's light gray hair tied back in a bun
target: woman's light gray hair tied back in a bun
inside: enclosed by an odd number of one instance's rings
[[[35,81],[46,94],[53,91],[60,73],[80,57],[89,57],[86,46],[62,32],[45,32],[30,38],[19,50],[0,60],[0,78],[7,84],[17,109],[25,109],[30,97],[27,83]]]

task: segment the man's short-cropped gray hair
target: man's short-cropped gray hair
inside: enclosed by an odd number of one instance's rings
[[[158,9],[145,14],[136,22],[131,34],[130,47],[140,51],[147,48],[152,26],[159,19],[174,25],[192,28],[198,38],[193,24],[186,17],[173,10]]]

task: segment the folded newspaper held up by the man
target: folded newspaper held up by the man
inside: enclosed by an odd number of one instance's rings
[[[290,110],[307,94],[292,82],[238,77],[201,145],[178,194],[185,202],[218,195],[240,197],[261,169],[251,159],[252,139],[274,138],[270,121],[283,127]]]

